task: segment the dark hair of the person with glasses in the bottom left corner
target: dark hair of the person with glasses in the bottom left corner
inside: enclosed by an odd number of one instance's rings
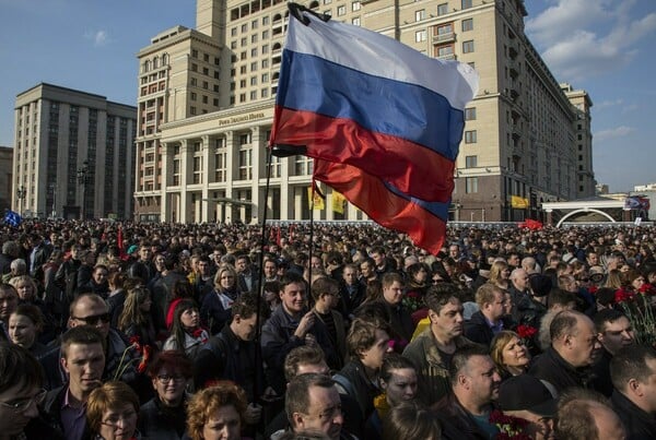
[[[40,364],[26,348],[0,342],[0,393],[16,384],[21,391],[42,388],[44,371]]]

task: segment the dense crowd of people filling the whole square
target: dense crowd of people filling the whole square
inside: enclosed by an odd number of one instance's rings
[[[656,438],[655,229],[313,227],[0,227],[0,439]]]

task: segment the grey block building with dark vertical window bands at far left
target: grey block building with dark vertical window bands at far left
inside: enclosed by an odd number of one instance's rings
[[[16,96],[12,209],[132,218],[136,107],[40,83]]]

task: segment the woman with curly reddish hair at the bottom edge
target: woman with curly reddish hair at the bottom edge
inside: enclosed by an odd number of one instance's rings
[[[233,382],[206,388],[187,406],[187,435],[191,440],[239,440],[246,405],[246,393]]]

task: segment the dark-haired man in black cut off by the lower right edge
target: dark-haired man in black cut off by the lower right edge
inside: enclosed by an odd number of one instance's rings
[[[613,409],[628,440],[656,439],[656,350],[645,346],[620,349],[610,361]]]

